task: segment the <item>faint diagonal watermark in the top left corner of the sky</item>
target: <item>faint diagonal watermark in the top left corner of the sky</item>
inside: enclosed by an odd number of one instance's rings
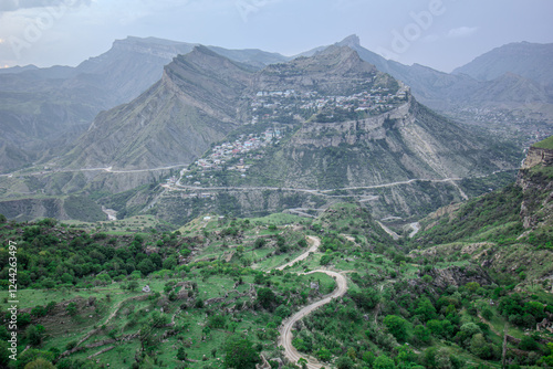
[[[23,29],[23,36],[10,36],[8,39],[15,59],[21,59],[21,52],[42,39],[45,31],[54,27],[55,22],[60,20],[70,8],[80,6],[83,0],[60,0],[56,6],[46,7],[36,17],[32,19],[29,24]]]

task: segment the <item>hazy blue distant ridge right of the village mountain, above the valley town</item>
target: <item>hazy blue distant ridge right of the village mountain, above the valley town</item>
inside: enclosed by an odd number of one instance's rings
[[[361,46],[355,35],[338,44],[348,45],[364,61],[409,85],[418,101],[435,109],[448,112],[459,106],[495,106],[505,102],[513,103],[513,108],[520,107],[521,103],[553,103],[553,44],[508,44],[451,74],[420,64],[408,66],[388,61]]]

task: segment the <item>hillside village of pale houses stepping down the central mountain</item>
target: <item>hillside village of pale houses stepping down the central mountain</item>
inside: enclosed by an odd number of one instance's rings
[[[221,171],[244,178],[253,162],[264,157],[263,149],[279,144],[292,130],[290,124],[305,120],[324,124],[380,115],[406,102],[408,95],[409,89],[403,84],[397,91],[375,87],[347,96],[324,96],[316,91],[259,91],[250,104],[252,119],[244,126],[264,125],[271,128],[242,134],[233,141],[213,146],[188,168],[186,176],[180,180],[171,177],[164,187],[220,186],[213,177]]]

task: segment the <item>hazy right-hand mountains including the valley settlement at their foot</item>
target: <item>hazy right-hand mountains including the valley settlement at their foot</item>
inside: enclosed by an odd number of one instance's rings
[[[386,60],[363,48],[356,35],[347,36],[337,45],[352,48],[364,61],[410,86],[413,95],[420,103],[459,122],[503,130],[513,127],[512,138],[520,136],[519,129],[526,134],[543,129],[551,133],[551,45],[505,45],[499,48],[505,52],[498,53],[495,49],[482,55],[486,63],[477,59],[474,64],[469,63],[467,68],[460,67],[453,73]],[[487,74],[484,78],[470,72],[481,64],[494,73]]]

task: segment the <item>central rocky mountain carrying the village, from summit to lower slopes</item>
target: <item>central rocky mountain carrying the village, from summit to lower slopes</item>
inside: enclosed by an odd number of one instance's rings
[[[242,94],[247,124],[188,167],[157,217],[313,215],[348,198],[375,217],[413,218],[480,191],[479,178],[518,157],[419,104],[348,46],[269,65]]]

